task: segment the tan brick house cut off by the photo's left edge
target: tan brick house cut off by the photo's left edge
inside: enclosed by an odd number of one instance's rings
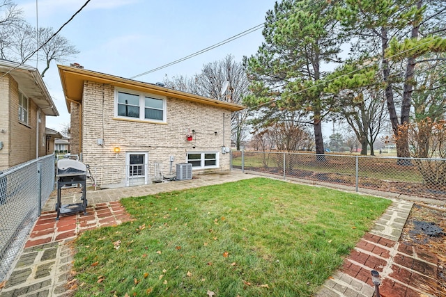
[[[59,115],[36,68],[0,59],[0,170],[49,153],[46,115]]]

